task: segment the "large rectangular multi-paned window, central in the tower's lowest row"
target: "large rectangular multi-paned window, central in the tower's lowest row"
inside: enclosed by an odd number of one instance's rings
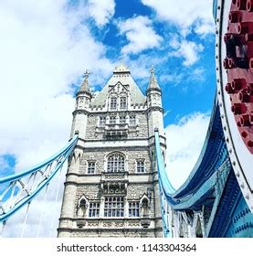
[[[104,217],[123,217],[124,197],[105,197]]]

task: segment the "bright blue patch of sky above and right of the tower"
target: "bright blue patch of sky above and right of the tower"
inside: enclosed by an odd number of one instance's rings
[[[131,59],[131,62],[134,60],[142,62],[142,59],[148,59],[148,63],[155,67],[157,79],[163,89],[163,107],[168,113],[164,116],[165,126],[178,122],[181,117],[192,112],[209,112],[215,92],[214,33],[206,33],[206,31],[202,34],[196,33],[195,28],[199,22],[199,18],[196,18],[195,22],[187,27],[189,31],[183,37],[177,23],[160,19],[154,8],[143,5],[145,2],[149,1],[116,1],[111,22],[102,28],[97,27],[94,18],[91,17],[89,26],[93,37],[107,46],[109,50],[106,56],[114,62],[122,59],[128,64],[128,59]],[[150,2],[155,3],[155,1]],[[211,9],[209,11],[211,14]],[[160,43],[156,45],[154,42],[146,48],[133,46],[132,51],[129,50],[127,54],[124,54],[122,48],[131,43],[134,45],[134,42],[130,42],[127,33],[132,32],[135,36],[134,29],[138,27],[139,17],[150,21],[140,22],[142,23],[140,28],[145,25],[152,28],[153,34],[160,37]],[[130,19],[132,25],[126,24]],[[120,27],[124,25],[126,28],[123,30]],[[212,30],[207,30],[207,32],[210,31],[212,32]],[[194,49],[193,56],[187,56],[184,52],[174,56],[176,50],[171,46],[174,40],[179,44],[185,42],[185,48],[189,50],[191,43],[193,47],[200,46],[202,49],[199,51]],[[189,63],[184,64],[185,61]],[[145,64],[144,68],[147,66]],[[132,73],[134,75],[134,69]],[[137,74],[135,79],[144,93],[148,83],[147,74],[141,77]]]

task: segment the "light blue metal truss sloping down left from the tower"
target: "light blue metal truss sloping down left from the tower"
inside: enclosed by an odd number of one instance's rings
[[[47,187],[47,184],[68,159],[77,142],[78,135],[75,135],[58,154],[49,157],[41,164],[19,174],[0,178],[2,187],[0,194],[0,222],[9,219],[20,208],[29,204],[41,190]]]

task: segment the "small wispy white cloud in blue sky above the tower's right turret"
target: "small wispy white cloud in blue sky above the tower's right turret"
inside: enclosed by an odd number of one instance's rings
[[[196,44],[193,41],[187,41],[185,39],[180,40],[178,37],[173,37],[170,41],[170,46],[174,51],[169,52],[169,56],[183,58],[184,66],[194,65],[199,59],[199,53],[204,49],[201,44]]]

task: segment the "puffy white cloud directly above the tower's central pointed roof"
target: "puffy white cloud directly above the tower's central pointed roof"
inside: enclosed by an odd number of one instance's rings
[[[163,41],[152,27],[152,20],[147,16],[134,16],[118,23],[121,35],[125,35],[129,44],[121,49],[121,53],[137,54],[145,49],[158,48]]]

